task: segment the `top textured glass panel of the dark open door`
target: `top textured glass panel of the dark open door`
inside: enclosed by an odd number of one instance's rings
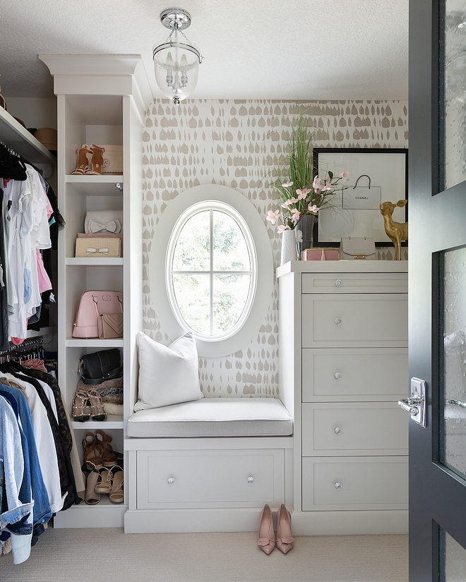
[[[440,20],[439,117],[442,129],[439,150],[443,163],[439,181],[440,190],[443,190],[466,180],[465,1],[444,0]]]

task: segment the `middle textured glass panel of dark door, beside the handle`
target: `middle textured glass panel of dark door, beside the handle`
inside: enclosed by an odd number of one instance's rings
[[[442,267],[439,453],[441,463],[466,478],[466,248],[443,253]]]

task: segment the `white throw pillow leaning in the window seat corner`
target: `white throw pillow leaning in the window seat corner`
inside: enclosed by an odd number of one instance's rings
[[[189,402],[203,397],[199,386],[198,351],[191,332],[169,346],[143,332],[136,334],[139,352],[139,394],[134,411]]]

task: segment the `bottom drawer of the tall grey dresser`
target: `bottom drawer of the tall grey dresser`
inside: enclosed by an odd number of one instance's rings
[[[303,511],[407,509],[407,456],[302,460]]]

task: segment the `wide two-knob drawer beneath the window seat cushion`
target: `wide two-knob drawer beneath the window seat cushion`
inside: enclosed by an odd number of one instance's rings
[[[138,451],[137,508],[263,507],[285,499],[282,449]]]

